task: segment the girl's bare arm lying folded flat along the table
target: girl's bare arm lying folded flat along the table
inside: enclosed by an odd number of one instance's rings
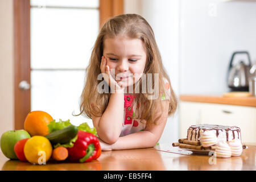
[[[154,127],[146,126],[144,131],[119,137],[117,142],[113,144],[108,144],[100,140],[102,150],[125,150],[132,148],[154,147],[163,133],[168,117],[168,101],[166,100],[162,102],[164,102],[164,112],[158,120],[158,125],[154,125]]]

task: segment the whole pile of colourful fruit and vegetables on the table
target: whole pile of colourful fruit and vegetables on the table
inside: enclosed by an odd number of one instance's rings
[[[94,127],[87,123],[74,126],[69,120],[56,122],[44,111],[28,113],[24,130],[6,131],[0,142],[7,158],[32,164],[48,160],[83,163],[101,155]]]

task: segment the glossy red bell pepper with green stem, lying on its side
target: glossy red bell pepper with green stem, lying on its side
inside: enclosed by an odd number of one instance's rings
[[[74,146],[68,149],[68,160],[71,162],[90,162],[101,155],[101,146],[97,137],[79,130]]]

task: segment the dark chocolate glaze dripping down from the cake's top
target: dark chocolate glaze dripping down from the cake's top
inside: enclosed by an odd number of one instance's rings
[[[239,135],[241,135],[241,130],[240,127],[237,126],[224,126],[224,125],[209,125],[209,124],[201,124],[201,125],[192,125],[189,127],[189,129],[193,129],[193,130],[199,130],[198,131],[198,138],[200,137],[200,129],[205,131],[205,130],[216,130],[216,135],[218,137],[218,130],[225,130],[226,131],[226,140],[228,141],[229,138],[229,131],[232,130],[233,133],[233,139],[234,139],[234,131],[237,131],[238,133],[238,139],[239,139]],[[188,129],[188,131],[189,131]],[[192,130],[192,132],[193,132]],[[195,135],[196,138],[196,135]],[[188,139],[188,133],[187,133],[187,139]],[[192,134],[191,134],[191,139],[192,140]],[[240,139],[242,140],[242,139]]]

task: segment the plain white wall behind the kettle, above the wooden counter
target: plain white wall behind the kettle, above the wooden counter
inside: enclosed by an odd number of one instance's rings
[[[247,50],[256,59],[256,2],[182,0],[180,6],[180,94],[228,92],[232,53]]]

